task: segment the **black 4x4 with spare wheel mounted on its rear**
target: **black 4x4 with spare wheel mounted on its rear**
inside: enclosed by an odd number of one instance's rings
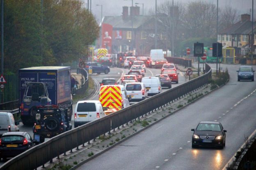
[[[51,138],[68,130],[69,123],[67,109],[57,105],[39,106],[36,114],[36,123],[33,126],[34,139],[44,142],[45,138]]]

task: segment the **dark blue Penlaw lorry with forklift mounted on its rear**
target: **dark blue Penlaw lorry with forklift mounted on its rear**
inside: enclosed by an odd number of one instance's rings
[[[72,117],[70,67],[30,67],[20,69],[19,113],[24,125],[35,122],[37,107],[57,105],[66,108]]]

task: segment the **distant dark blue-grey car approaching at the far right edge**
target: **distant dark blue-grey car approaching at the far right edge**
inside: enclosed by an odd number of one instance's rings
[[[243,65],[239,67],[238,72],[238,81],[240,80],[251,80],[254,81],[254,70],[249,65]]]

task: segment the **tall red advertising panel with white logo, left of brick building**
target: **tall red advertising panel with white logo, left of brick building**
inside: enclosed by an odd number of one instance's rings
[[[105,23],[102,24],[102,48],[106,48],[109,54],[111,54],[112,47],[112,30],[112,25]]]

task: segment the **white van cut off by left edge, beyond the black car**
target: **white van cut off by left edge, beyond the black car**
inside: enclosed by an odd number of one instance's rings
[[[0,112],[0,137],[5,132],[18,132],[17,123],[14,121],[13,114],[9,112]]]

